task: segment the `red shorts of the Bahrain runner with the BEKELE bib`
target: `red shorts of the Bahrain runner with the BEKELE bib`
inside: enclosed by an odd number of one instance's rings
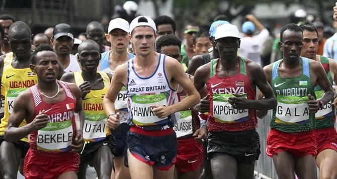
[[[78,153],[58,152],[42,153],[29,149],[25,157],[25,178],[58,178],[62,173],[78,171],[80,156]]]

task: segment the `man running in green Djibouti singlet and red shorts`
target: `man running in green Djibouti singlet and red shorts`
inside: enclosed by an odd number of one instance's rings
[[[302,29],[288,24],[282,28],[280,38],[283,59],[264,67],[278,101],[266,153],[273,158],[280,179],[295,178],[295,172],[299,178],[317,178],[314,113],[333,99],[334,92],[322,65],[300,57]],[[320,100],[314,99],[317,84],[325,92]]]

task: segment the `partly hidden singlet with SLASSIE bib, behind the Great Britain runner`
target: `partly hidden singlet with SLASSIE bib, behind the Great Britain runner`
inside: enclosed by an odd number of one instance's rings
[[[191,75],[186,74],[186,76],[191,79]],[[177,93],[178,102],[182,101],[186,97],[187,94],[184,90],[180,93]],[[198,112],[194,109],[189,109],[180,111],[179,113],[180,117],[177,124],[173,128],[176,131],[177,138],[190,137],[197,129],[200,128]]]

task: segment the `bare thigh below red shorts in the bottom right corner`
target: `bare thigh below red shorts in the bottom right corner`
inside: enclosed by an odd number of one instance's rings
[[[319,168],[319,178],[337,178],[337,152],[325,149],[318,153],[316,164]]]

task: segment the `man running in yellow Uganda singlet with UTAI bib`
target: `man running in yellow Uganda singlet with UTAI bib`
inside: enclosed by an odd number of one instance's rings
[[[61,80],[76,83],[81,90],[82,106],[85,112],[83,138],[86,141],[81,153],[78,178],[86,178],[88,163],[95,167],[98,178],[110,178],[113,160],[114,140],[106,127],[107,116],[103,111],[103,97],[108,90],[111,74],[97,73],[101,59],[100,45],[85,40],[78,46],[78,60],[81,72],[69,72]]]

